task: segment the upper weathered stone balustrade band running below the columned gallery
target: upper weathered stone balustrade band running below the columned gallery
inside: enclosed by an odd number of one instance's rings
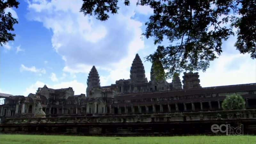
[[[67,116],[46,118],[6,118],[4,124],[72,124],[72,123],[152,123],[152,122],[189,122],[211,120],[256,119],[256,109],[184,112],[140,115],[109,115],[109,116]]]

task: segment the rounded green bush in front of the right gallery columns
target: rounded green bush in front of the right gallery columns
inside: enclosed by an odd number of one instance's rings
[[[224,110],[236,110],[245,109],[245,101],[239,94],[227,95],[225,100],[223,100],[221,107]]]

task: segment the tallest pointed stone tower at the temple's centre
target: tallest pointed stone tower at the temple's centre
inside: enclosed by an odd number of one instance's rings
[[[131,82],[136,83],[148,83],[148,80],[145,76],[145,69],[140,60],[140,56],[137,53],[134,60],[132,61],[132,67],[130,70]]]

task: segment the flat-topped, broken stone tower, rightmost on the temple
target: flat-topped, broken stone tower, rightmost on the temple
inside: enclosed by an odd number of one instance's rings
[[[183,77],[183,81],[182,81],[183,89],[201,88],[201,86],[199,84],[200,79],[198,79],[199,78],[198,72],[196,72],[196,73],[184,72],[183,74],[184,74],[184,76],[182,76]]]

